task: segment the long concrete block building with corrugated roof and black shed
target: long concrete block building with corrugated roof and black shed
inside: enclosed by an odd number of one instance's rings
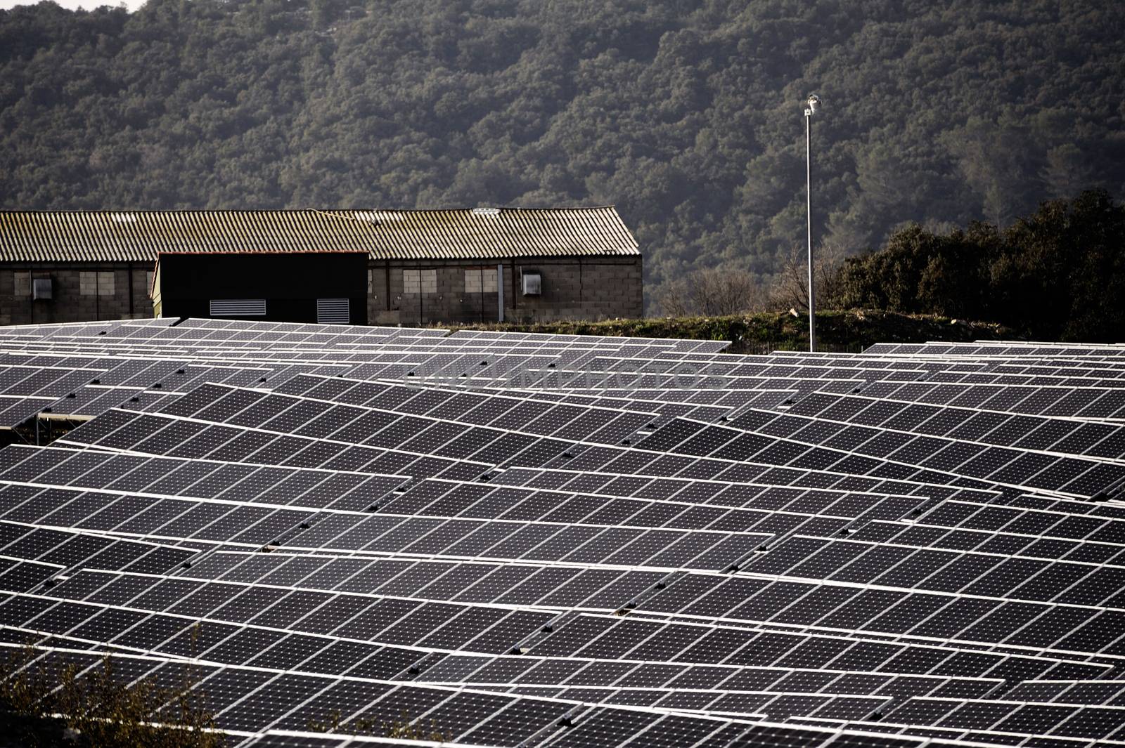
[[[0,212],[0,325],[525,322],[642,307],[640,250],[612,207]]]

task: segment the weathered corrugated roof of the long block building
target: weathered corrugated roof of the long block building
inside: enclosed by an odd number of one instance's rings
[[[376,259],[640,254],[613,207],[0,211],[0,262],[151,262],[159,252],[368,252]]]

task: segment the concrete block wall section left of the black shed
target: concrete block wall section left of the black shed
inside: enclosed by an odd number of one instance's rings
[[[36,264],[0,267],[0,325],[40,325],[88,322],[100,319],[144,319],[152,317],[148,298],[147,264]],[[102,283],[83,273],[109,273],[112,294]],[[53,299],[34,300],[32,279],[50,277]],[[98,280],[107,280],[101,275]],[[99,289],[100,286],[100,289]],[[86,293],[83,293],[83,290]],[[98,294],[94,291],[100,290]]]

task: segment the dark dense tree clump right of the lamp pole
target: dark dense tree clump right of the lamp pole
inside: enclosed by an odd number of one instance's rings
[[[1002,322],[1036,338],[1125,341],[1125,206],[1043,202],[999,231],[915,224],[842,267],[831,303]]]

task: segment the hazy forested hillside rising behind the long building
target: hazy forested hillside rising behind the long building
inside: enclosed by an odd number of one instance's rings
[[[150,0],[0,11],[0,207],[616,203],[648,291],[1125,192],[1105,0]]]

